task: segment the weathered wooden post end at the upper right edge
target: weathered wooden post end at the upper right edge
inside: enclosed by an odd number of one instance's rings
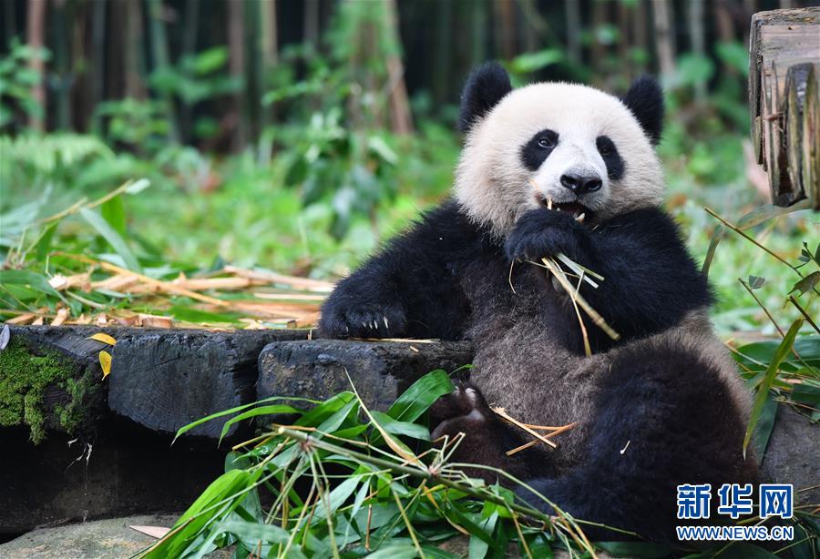
[[[820,7],[753,15],[749,47],[752,144],[774,204],[820,209]]]

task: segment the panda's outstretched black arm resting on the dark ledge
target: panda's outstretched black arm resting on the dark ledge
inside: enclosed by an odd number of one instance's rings
[[[334,338],[462,336],[469,304],[458,262],[480,235],[446,202],[338,283],[322,307],[320,328]]]

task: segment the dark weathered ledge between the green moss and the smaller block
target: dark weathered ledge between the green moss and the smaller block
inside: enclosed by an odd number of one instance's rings
[[[117,344],[109,347],[88,339],[97,332],[107,333]],[[210,413],[254,401],[256,361],[265,344],[304,340],[309,335],[309,330],[22,326],[11,328],[11,343],[23,340],[30,355],[58,354],[66,363],[67,376],[83,378],[88,384],[87,393],[75,406],[83,408],[81,417],[72,425],[55,417],[56,407],[69,400],[66,390],[60,386],[46,390],[42,412],[47,428],[69,434],[93,431],[110,410],[149,429],[176,432]],[[113,358],[106,380],[98,357],[103,350]],[[0,353],[0,364],[12,362],[7,354],[5,357]],[[5,374],[19,372],[0,371],[0,381]],[[219,437],[224,421],[204,423],[191,434]]]

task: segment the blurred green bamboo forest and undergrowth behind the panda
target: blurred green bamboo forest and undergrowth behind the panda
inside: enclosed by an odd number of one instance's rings
[[[21,248],[64,208],[49,249],[119,253],[71,208],[146,178],[150,188],[103,213],[156,277],[231,262],[335,279],[446,196],[460,88],[487,59],[516,85],[622,93],[635,76],[661,76],[668,208],[702,260],[717,225],[704,206],[736,219],[766,201],[746,147],[750,17],[808,4],[4,0],[3,268],[47,273],[46,250]],[[755,235],[796,262],[816,241],[805,214]],[[776,266],[724,241],[711,276],[719,328],[774,332],[738,277],[767,279],[752,282],[757,299],[780,308],[791,285]]]

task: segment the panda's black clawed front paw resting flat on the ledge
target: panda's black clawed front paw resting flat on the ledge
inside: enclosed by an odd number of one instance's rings
[[[319,328],[331,338],[399,338],[405,333],[405,311],[398,305],[376,303],[347,306],[329,300]]]

